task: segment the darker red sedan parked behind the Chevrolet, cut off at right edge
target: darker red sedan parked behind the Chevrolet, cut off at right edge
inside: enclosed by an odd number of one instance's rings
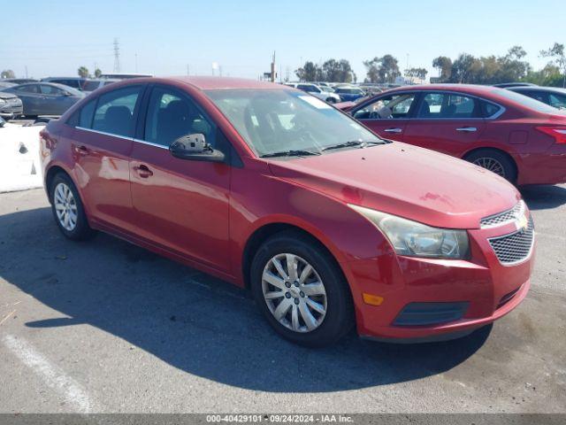
[[[566,113],[507,89],[409,86],[337,107],[381,137],[463,158],[516,185],[566,182]]]

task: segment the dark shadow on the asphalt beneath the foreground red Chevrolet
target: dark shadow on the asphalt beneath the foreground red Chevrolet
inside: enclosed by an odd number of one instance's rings
[[[0,275],[57,311],[30,328],[88,324],[188,374],[250,390],[324,392],[401,383],[468,359],[491,327],[436,344],[349,335],[310,350],[277,336],[248,293],[104,234],[73,243],[49,208],[0,216]]]

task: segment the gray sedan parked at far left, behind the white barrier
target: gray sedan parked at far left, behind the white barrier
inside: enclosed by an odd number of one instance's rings
[[[11,93],[21,99],[23,114],[62,115],[73,104],[86,95],[77,89],[51,82],[30,82],[0,89],[0,93]]]

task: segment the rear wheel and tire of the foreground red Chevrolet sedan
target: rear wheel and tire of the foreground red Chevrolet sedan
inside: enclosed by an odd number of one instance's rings
[[[94,235],[94,230],[88,226],[79,191],[67,174],[59,173],[51,181],[50,200],[57,227],[65,237],[82,241]]]

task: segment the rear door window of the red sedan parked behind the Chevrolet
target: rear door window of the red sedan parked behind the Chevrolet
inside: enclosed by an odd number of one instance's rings
[[[417,117],[424,119],[479,118],[478,102],[473,97],[451,93],[427,93]]]

